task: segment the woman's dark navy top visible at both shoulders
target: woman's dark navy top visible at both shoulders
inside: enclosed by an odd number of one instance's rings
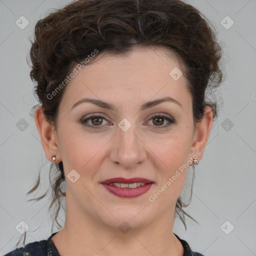
[[[51,240],[51,237],[56,233],[57,232],[52,233],[47,240],[30,242],[26,244],[24,247],[14,249],[3,256],[60,256],[60,254],[57,251],[57,248]],[[180,239],[177,235],[176,237],[183,245],[183,256],[203,256],[199,252],[193,252],[185,240]]]

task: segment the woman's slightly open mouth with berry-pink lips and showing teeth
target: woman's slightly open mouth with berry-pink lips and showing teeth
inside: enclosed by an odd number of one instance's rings
[[[153,185],[153,181],[146,178],[130,178],[121,177],[110,178],[101,181],[101,184],[110,193],[119,197],[137,197],[147,192]]]

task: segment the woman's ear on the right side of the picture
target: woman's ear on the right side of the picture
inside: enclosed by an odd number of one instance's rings
[[[213,113],[210,106],[206,105],[204,107],[204,117],[199,122],[196,123],[195,133],[192,140],[192,146],[190,149],[191,155],[195,154],[195,152],[199,151],[201,154],[198,154],[197,160],[199,161],[202,158],[204,148],[208,141],[209,133],[212,126]]]

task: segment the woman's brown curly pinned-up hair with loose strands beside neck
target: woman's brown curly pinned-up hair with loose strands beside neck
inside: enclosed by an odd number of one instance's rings
[[[194,123],[203,118],[206,105],[212,109],[213,120],[217,117],[219,105],[215,100],[215,89],[223,80],[219,64],[222,49],[209,20],[198,9],[181,0],[74,1],[38,21],[31,44],[30,77],[36,84],[34,94],[47,121],[54,127],[57,127],[58,106],[65,88],[53,99],[47,95],[65,79],[73,65],[95,48],[99,52],[124,54],[134,45],[159,46],[174,53],[188,81]],[[50,178],[52,166],[56,172]],[[62,161],[52,163],[50,173],[52,201],[49,209],[53,204],[57,205],[54,215],[57,222],[60,198],[65,196]],[[27,194],[33,192],[39,182],[40,171],[36,184]],[[30,200],[39,200],[45,194]],[[184,214],[193,219],[183,210],[188,204],[183,203],[179,196],[175,207],[175,215],[180,217],[185,229]]]

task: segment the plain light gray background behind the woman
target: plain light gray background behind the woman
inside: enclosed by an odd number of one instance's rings
[[[29,225],[26,243],[50,235],[51,219],[47,213],[50,197],[26,202],[31,195],[25,195],[36,181],[42,164],[45,164],[41,171],[42,186],[33,197],[49,187],[49,162],[34,119],[28,115],[37,102],[32,94],[26,57],[30,47],[28,37],[36,21],[43,18],[49,8],[60,8],[67,2],[0,0],[1,255],[15,248],[20,237],[15,226],[21,220]],[[212,127],[203,158],[195,166],[193,197],[186,208],[199,225],[186,218],[185,231],[177,219],[174,232],[186,240],[192,250],[206,256],[256,255],[256,0],[186,2],[202,11],[216,27],[224,50],[226,79],[220,91],[223,107]],[[21,15],[29,21],[24,29],[15,24]],[[229,29],[221,24],[226,15],[234,21]],[[222,22],[226,26],[231,24],[230,19]],[[28,123],[23,131],[16,126],[21,118]],[[185,194],[188,191],[185,186]],[[62,213],[60,216],[64,219]],[[226,220],[230,224],[223,229]],[[234,229],[225,234],[222,230],[227,232],[231,224]]]

